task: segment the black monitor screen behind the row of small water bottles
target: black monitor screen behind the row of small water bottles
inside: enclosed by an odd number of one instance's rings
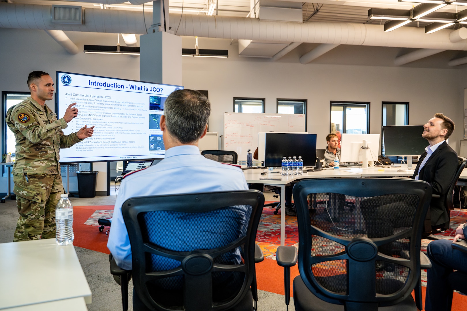
[[[265,166],[281,166],[284,157],[302,157],[304,166],[316,165],[316,134],[266,133]]]

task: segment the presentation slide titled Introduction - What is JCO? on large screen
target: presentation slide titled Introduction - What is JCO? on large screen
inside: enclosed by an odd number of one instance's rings
[[[70,104],[78,108],[78,117],[64,133],[95,126],[92,137],[60,150],[60,163],[163,158],[159,121],[165,99],[180,89],[183,86],[57,71],[58,118]]]

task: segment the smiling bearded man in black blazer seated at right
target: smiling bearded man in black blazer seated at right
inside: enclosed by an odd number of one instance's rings
[[[431,218],[432,227],[444,228],[444,224],[449,222],[444,202],[458,166],[457,153],[446,143],[454,131],[454,122],[442,113],[437,113],[423,129],[422,137],[430,145],[418,159],[412,178],[428,182],[433,188],[433,194],[439,195],[439,198],[432,198],[427,219]]]

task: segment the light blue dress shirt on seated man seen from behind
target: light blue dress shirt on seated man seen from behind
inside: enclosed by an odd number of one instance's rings
[[[129,198],[232,190],[248,190],[240,168],[206,159],[194,145],[172,147],[165,159],[121,182],[107,248],[120,268],[132,269],[130,240],[121,214],[121,206]]]

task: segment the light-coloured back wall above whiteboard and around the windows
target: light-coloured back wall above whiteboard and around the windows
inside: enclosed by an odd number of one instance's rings
[[[80,51],[83,44],[116,45],[117,41],[115,34],[67,35]],[[26,78],[33,70],[47,71],[54,80],[56,70],[139,80],[139,57],[69,55],[42,30],[0,28],[0,42],[6,47],[0,50],[2,91],[27,91]],[[193,48],[194,38],[184,37],[182,46]],[[467,73],[458,69],[302,65],[294,52],[270,62],[239,57],[230,40],[207,38],[199,38],[199,48],[229,49],[227,59],[182,57],[184,87],[209,91],[210,131],[222,134],[222,114],[233,111],[233,97],[265,97],[268,113],[276,112],[276,98],[306,98],[308,131],[318,134],[318,147],[325,146],[329,132],[331,100],[370,102],[371,133],[381,131],[382,101],[409,102],[410,124],[425,124],[434,113],[443,112],[457,124],[450,145],[457,150],[462,139]],[[0,183],[0,192],[3,187]]]

